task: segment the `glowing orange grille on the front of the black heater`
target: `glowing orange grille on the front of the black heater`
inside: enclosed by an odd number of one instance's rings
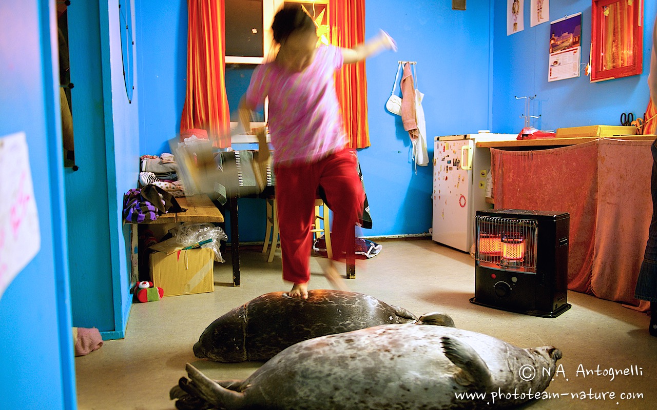
[[[476,216],[476,260],[501,269],[536,272],[538,221]]]

